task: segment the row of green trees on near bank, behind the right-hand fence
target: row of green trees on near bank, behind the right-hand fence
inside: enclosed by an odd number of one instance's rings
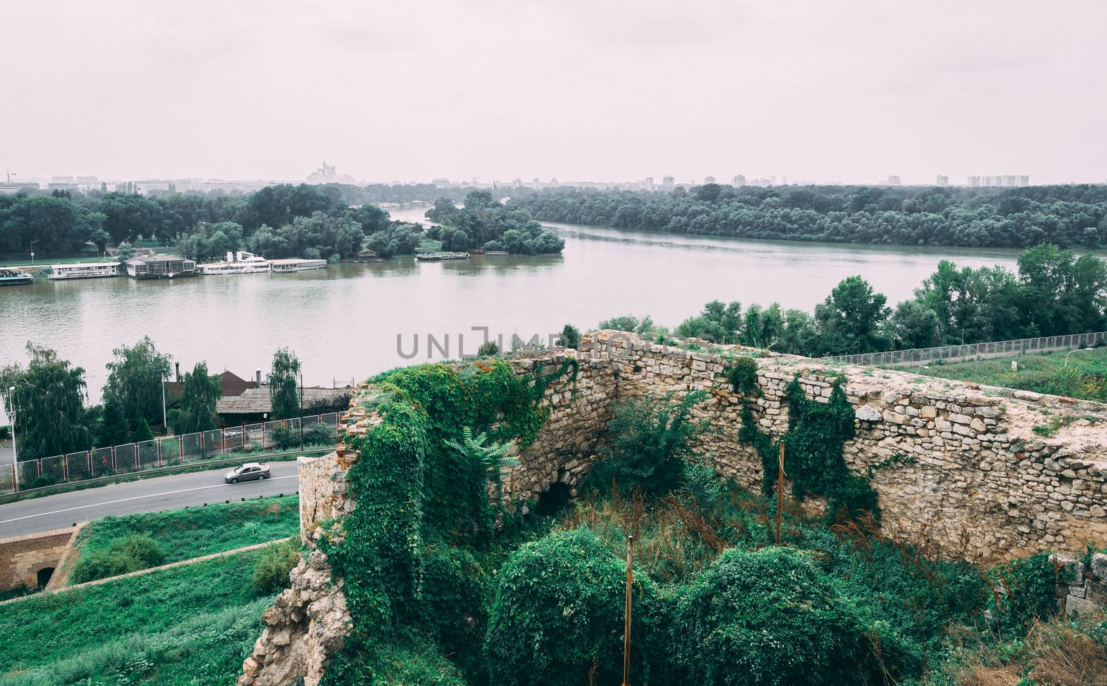
[[[1000,265],[958,268],[943,259],[914,297],[896,307],[867,280],[850,276],[814,313],[779,303],[743,308],[712,300],[672,331],[649,316],[624,315],[599,326],[659,341],[706,338],[821,357],[1107,330],[1105,293],[1103,259],[1038,245],[1018,256],[1017,273]]]

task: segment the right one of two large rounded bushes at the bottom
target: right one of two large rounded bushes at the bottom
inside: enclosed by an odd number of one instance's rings
[[[859,618],[815,564],[790,549],[724,552],[682,590],[669,644],[670,683],[884,683]]]

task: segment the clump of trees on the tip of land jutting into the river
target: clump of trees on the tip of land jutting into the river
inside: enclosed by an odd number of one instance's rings
[[[526,209],[504,205],[488,191],[472,191],[465,206],[439,198],[426,213],[434,226],[428,235],[442,240],[442,249],[463,252],[472,248],[505,250],[520,255],[560,253],[565,239],[542,228]]]

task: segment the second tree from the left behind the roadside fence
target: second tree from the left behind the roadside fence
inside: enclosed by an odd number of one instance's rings
[[[149,336],[133,346],[120,346],[112,355],[115,359],[105,365],[104,400],[117,402],[132,422],[162,423],[162,380],[173,358],[158,352]]]

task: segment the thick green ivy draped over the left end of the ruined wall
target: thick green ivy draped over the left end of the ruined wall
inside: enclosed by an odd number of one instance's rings
[[[428,632],[451,653],[472,647],[456,631],[479,615],[469,605],[480,594],[462,583],[474,577],[465,551],[488,545],[495,511],[487,465],[451,446],[469,428],[525,448],[549,414],[546,390],[567,375],[575,383],[577,369],[577,360],[566,358],[551,372],[517,375],[493,359],[421,365],[372,379],[371,408],[381,422],[346,438],[360,452],[346,478],[358,506],[320,543],[344,580],[353,620],[327,683],[372,683],[376,646],[405,627]],[[449,579],[457,583],[445,583]],[[443,597],[443,588],[456,588],[457,597]]]

